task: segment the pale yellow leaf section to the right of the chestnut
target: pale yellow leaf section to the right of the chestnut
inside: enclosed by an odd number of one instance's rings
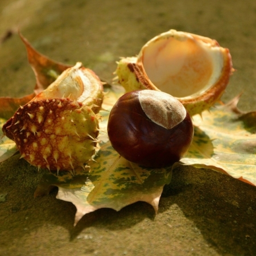
[[[256,112],[241,112],[238,100],[193,116],[195,135],[180,162],[256,185]]]

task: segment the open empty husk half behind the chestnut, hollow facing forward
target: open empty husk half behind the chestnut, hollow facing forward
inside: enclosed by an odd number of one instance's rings
[[[176,30],[155,36],[137,57],[122,58],[116,69],[126,92],[161,90],[176,97],[190,115],[220,99],[232,72],[229,49],[216,40]]]

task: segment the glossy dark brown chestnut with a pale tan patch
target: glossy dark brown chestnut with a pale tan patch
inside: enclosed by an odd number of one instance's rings
[[[193,124],[184,106],[156,90],[125,93],[113,106],[108,136],[123,158],[150,168],[178,162],[193,139]]]

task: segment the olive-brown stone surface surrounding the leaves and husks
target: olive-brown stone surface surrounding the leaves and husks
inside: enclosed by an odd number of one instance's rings
[[[238,106],[256,109],[256,1],[1,0],[0,20],[0,97],[35,85],[18,28],[38,51],[109,82],[120,56],[174,28],[229,48],[236,72],[222,101],[243,92]],[[76,209],[57,189],[33,197],[40,176],[19,155],[0,164],[0,255],[256,255],[256,188],[231,177],[179,168],[157,215],[138,202],[73,228]]]

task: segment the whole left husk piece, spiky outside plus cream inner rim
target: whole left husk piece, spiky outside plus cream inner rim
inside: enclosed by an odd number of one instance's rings
[[[3,133],[21,157],[38,168],[85,168],[95,153],[103,90],[100,79],[77,63],[16,111]]]

